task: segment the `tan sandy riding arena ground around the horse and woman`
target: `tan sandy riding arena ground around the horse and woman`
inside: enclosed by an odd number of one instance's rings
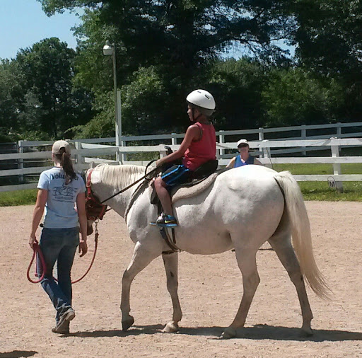
[[[308,289],[315,335],[299,337],[296,291],[269,246],[257,255],[261,283],[245,329],[232,340],[216,340],[240,304],[242,279],[235,255],[180,253],[180,332],[161,333],[171,302],[161,258],[141,272],[131,291],[135,325],[122,332],[119,311],[122,272],[133,243],[124,221],[109,212],[100,222],[91,272],[74,284],[76,318],[71,335],[56,335],[54,308],[40,284],[25,273],[33,207],[1,207],[0,358],[2,357],[362,357],[362,203],[307,202],[315,258],[334,291],[323,301]],[[78,278],[93,255],[77,258]]]

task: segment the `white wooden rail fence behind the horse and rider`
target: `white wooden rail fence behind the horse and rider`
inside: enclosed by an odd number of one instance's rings
[[[229,159],[235,154],[226,154],[227,151],[235,150],[236,142],[226,142],[228,136],[238,136],[238,139],[245,138],[248,135],[258,135],[257,140],[249,140],[250,148],[257,151],[259,160],[266,166],[272,166],[274,163],[330,163],[333,165],[334,174],[333,179],[337,183],[337,187],[341,187],[343,181],[359,181],[362,180],[362,175],[344,175],[341,173],[341,163],[362,163],[362,156],[339,156],[339,149],[341,146],[362,146],[362,139],[349,138],[341,139],[341,137],[362,137],[362,132],[342,133],[342,128],[362,127],[362,123],[339,123],[335,125],[313,125],[313,126],[300,126],[300,127],[283,127],[283,128],[270,128],[270,129],[247,129],[242,131],[220,131],[217,132],[218,143],[217,156],[220,166],[225,166]],[[325,139],[326,135],[308,136],[310,129],[332,129],[336,133],[334,137]],[[300,137],[288,137],[288,139],[265,139],[265,134],[287,131],[300,131]],[[140,136],[140,137],[122,137],[122,146],[114,146],[98,143],[111,143],[115,142],[115,138],[100,138],[100,139],[82,139],[81,141],[70,141],[74,143],[75,149],[72,151],[72,157],[77,170],[89,168],[91,163],[118,163],[112,159],[100,158],[100,156],[113,156],[119,153],[124,164],[146,165],[148,161],[127,161],[127,155],[134,153],[149,153],[156,152],[159,156],[165,155],[165,144],[168,144],[171,149],[175,150],[180,144],[177,144],[177,139],[182,139],[185,134],[161,134],[155,136]],[[308,139],[304,139],[308,138]],[[317,137],[317,139],[315,139]],[[339,137],[339,138],[337,138]],[[127,146],[128,142],[147,140],[158,140],[165,142],[165,144],[148,145],[148,146]],[[178,141],[178,142],[181,142]],[[9,169],[0,171],[0,177],[11,175],[33,175],[37,177],[42,171],[51,168],[52,163],[49,161],[51,158],[50,146],[52,142],[19,142],[19,153],[16,154],[0,154],[1,160],[16,160],[19,163],[18,169]],[[37,147],[46,149],[45,151],[32,151],[25,152],[26,147]],[[331,156],[316,156],[316,157],[274,157],[277,154],[303,152],[311,150],[329,149]],[[28,166],[24,168],[24,161],[37,162],[37,166]],[[39,164],[41,163],[41,164]],[[39,166],[42,165],[42,166]],[[298,181],[327,181],[330,180],[331,175],[294,175]],[[20,185],[3,185],[0,187],[0,192],[29,189],[36,187],[37,183],[28,183]]]

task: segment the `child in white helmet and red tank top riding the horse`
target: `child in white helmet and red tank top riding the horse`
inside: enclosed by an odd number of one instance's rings
[[[156,161],[156,166],[182,161],[182,164],[171,166],[155,180],[155,189],[163,207],[163,213],[156,223],[152,223],[158,226],[177,226],[168,190],[176,184],[187,183],[195,169],[216,159],[215,128],[209,120],[215,110],[214,97],[208,91],[198,89],[189,93],[186,100],[187,115],[192,125],[187,128],[179,149]]]

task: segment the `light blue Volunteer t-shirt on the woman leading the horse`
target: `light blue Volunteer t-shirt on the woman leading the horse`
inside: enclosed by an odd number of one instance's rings
[[[66,175],[62,168],[54,167],[40,174],[38,189],[48,191],[45,204],[44,227],[48,229],[69,229],[78,226],[75,203],[79,192],[86,191],[81,175],[65,184]]]

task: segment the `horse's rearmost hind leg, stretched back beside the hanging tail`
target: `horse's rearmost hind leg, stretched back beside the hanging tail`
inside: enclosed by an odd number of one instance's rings
[[[269,243],[288,272],[291,282],[293,282],[296,287],[303,317],[302,335],[313,335],[313,331],[310,328],[310,321],[313,319],[313,313],[310,309],[303,275],[300,272],[299,262],[296,258],[296,254],[294,253],[293,246],[291,245],[291,235],[288,232],[278,233],[276,236],[272,236],[269,239]]]

